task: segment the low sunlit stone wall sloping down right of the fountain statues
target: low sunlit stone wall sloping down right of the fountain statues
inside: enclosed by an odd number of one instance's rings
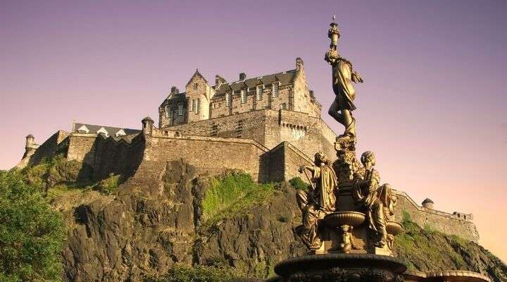
[[[458,219],[446,212],[435,209],[427,209],[416,204],[405,192],[396,191],[398,203],[396,204],[394,221],[403,221],[403,211],[410,214],[413,222],[422,228],[432,228],[449,235],[458,235],[467,240],[477,242],[479,233],[475,224],[471,221]]]

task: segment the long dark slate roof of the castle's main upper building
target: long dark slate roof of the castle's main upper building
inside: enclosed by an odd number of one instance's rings
[[[225,93],[242,90],[245,87],[256,87],[257,85],[270,85],[275,81],[280,81],[280,85],[288,85],[294,82],[296,70],[284,71],[282,73],[273,73],[270,75],[258,76],[256,78],[247,78],[246,80],[238,80],[234,82],[225,82],[220,88],[215,89],[214,97],[224,96]]]

